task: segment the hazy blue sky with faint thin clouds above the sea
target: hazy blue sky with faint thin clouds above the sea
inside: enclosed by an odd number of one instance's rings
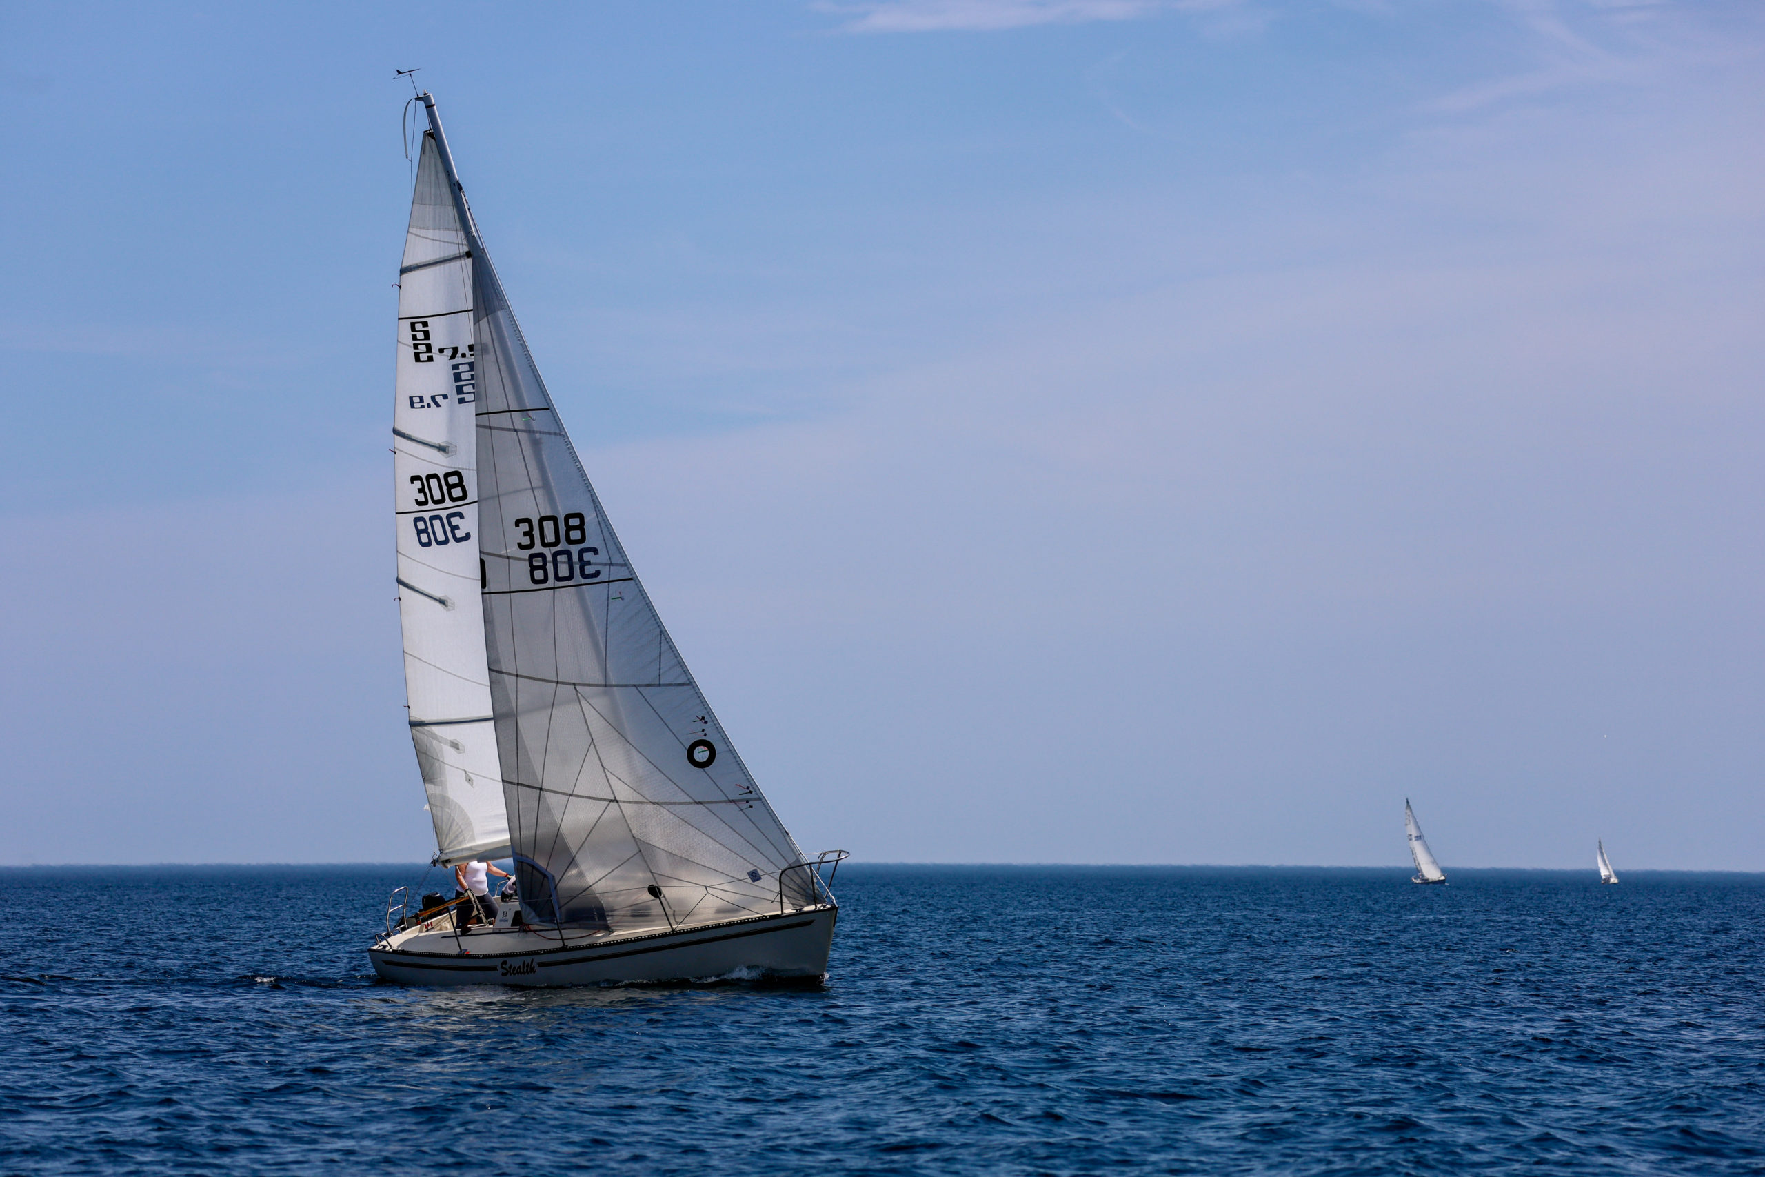
[[[1765,11],[0,16],[0,861],[429,854],[409,88],[785,824],[1765,870]]]

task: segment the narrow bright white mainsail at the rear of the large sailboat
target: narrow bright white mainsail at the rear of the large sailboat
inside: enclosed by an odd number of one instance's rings
[[[441,863],[508,854],[484,653],[471,270],[441,154],[424,138],[399,265],[392,468],[404,693]]]

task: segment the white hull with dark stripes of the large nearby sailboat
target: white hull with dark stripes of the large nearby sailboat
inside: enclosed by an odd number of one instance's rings
[[[838,907],[752,916],[694,928],[586,935],[554,928],[473,928],[445,919],[399,932],[367,951],[374,972],[399,985],[618,985],[819,978],[828,972]]]

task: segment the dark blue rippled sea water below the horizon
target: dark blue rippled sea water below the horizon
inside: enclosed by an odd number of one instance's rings
[[[378,985],[420,873],[0,872],[0,1172],[1765,1172],[1761,877],[847,866],[826,985]]]

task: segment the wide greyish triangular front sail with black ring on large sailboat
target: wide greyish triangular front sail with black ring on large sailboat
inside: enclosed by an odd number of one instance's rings
[[[482,646],[524,916],[621,930],[814,902],[582,471],[424,106],[471,256]]]

